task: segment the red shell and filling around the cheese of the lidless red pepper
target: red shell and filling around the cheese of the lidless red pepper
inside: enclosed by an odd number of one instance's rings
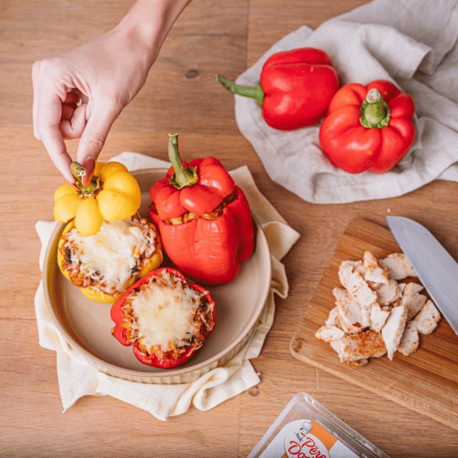
[[[189,344],[181,347],[180,349],[182,352],[178,356],[173,354],[173,350],[165,353],[167,357],[161,357],[163,355],[158,356],[154,352],[150,353],[149,351],[151,349],[145,350],[144,347],[142,348],[136,335],[127,331],[128,321],[125,320],[125,304],[127,298],[133,292],[137,291],[141,285],[146,285],[150,281],[154,281],[155,277],[161,276],[164,272],[170,273],[176,281],[181,281],[184,285],[192,288],[197,293],[201,293],[201,304],[205,306],[206,310],[209,308],[211,309],[211,316],[206,316],[205,322],[201,323],[198,338],[190,339]],[[210,292],[200,285],[188,282],[181,272],[171,267],[163,267],[153,270],[138,280],[135,284],[130,286],[130,288],[128,288],[125,293],[112,305],[110,315],[114,322],[112,334],[116,340],[125,346],[130,346],[133,344],[133,353],[135,357],[143,364],[159,367],[162,369],[172,369],[188,362],[195,355],[196,351],[202,346],[205,340],[212,334],[216,325],[215,302],[213,301]]]

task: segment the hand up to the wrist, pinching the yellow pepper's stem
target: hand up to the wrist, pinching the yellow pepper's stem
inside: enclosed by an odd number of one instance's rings
[[[33,130],[69,183],[72,159],[64,139],[80,138],[76,161],[90,181],[108,132],[143,86],[155,59],[148,46],[115,28],[32,67]]]

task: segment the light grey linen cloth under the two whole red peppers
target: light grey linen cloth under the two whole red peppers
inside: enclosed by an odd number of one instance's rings
[[[331,57],[340,84],[394,82],[416,105],[417,139],[390,172],[350,175],[323,154],[319,125],[294,131],[269,127],[257,101],[235,98],[235,117],[272,180],[317,204],[400,196],[436,178],[458,181],[458,2],[375,0],[315,31],[303,26],[275,43],[237,83],[255,86],[272,54],[316,47]]]

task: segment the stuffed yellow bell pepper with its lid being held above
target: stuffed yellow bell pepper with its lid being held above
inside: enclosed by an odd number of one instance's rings
[[[88,299],[111,303],[162,263],[160,236],[136,214],[141,191],[124,165],[98,162],[87,186],[86,170],[77,162],[71,170],[78,189],[66,183],[54,194],[54,219],[67,223],[57,263]]]

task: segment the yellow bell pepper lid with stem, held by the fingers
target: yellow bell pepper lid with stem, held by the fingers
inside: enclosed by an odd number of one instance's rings
[[[84,186],[85,168],[78,162],[70,167],[76,188],[69,183],[54,193],[54,219],[67,223],[75,219],[82,235],[94,235],[108,222],[129,218],[140,208],[141,191],[135,178],[119,162],[97,162],[94,176]]]

